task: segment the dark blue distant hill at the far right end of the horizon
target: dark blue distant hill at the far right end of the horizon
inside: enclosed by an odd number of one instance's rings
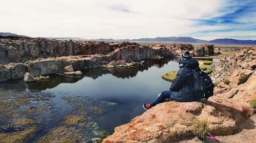
[[[228,39],[228,38],[210,40],[209,42],[213,44],[244,44],[244,45],[256,44],[256,40],[237,40],[237,39]]]

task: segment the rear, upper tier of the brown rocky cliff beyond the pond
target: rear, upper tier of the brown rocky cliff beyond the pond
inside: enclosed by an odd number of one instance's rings
[[[191,50],[190,44],[170,44],[167,47],[140,46],[135,42],[49,40],[45,38],[0,39],[1,61],[25,63],[38,58],[55,58],[68,55],[111,54],[116,52],[117,60],[142,59],[151,56],[174,56],[176,50]],[[153,50],[155,49],[155,50]],[[138,51],[139,50],[139,51]],[[118,51],[120,53],[118,53]],[[131,57],[135,52],[136,57]],[[177,53],[176,53],[177,54]],[[117,57],[119,56],[119,58]],[[131,58],[130,58],[131,57]],[[128,59],[125,59],[128,58]]]

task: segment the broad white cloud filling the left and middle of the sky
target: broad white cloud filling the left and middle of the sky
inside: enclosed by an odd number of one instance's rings
[[[2,1],[0,32],[31,37],[143,38],[186,36],[225,26],[192,27],[218,15],[221,0]]]

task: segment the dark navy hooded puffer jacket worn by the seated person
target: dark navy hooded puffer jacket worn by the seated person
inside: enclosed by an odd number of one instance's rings
[[[172,91],[172,95],[170,95],[170,99],[189,102],[195,101],[193,99],[193,74],[191,74],[192,70],[200,70],[199,63],[195,59],[187,60],[183,66],[180,66],[180,70],[177,73],[177,77],[175,78],[173,84],[170,86],[170,91]]]

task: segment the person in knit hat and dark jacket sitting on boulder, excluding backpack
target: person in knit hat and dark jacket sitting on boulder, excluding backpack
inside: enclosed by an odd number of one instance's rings
[[[177,73],[173,84],[170,86],[169,91],[163,91],[158,95],[155,102],[149,104],[143,104],[143,108],[150,109],[159,103],[164,102],[166,99],[171,101],[191,102],[193,99],[193,74],[190,74],[193,70],[200,70],[197,60],[192,59],[191,54],[186,51],[183,52],[179,61],[180,70]]]

